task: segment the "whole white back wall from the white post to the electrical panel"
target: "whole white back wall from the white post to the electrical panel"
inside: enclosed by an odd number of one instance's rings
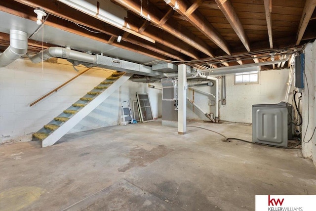
[[[285,97],[286,83],[289,69],[260,71],[258,84],[235,84],[234,74],[226,75],[226,106],[220,102],[220,120],[236,123],[252,123],[252,105],[261,103],[280,102]],[[220,93],[222,80],[220,81]],[[205,83],[205,82],[204,82]],[[190,84],[190,82],[189,82]],[[205,92],[215,93],[215,87],[195,87]],[[209,105],[209,100],[214,102],[214,97],[188,90],[190,99],[194,99],[198,106],[205,112],[215,113],[215,106]],[[290,95],[290,101],[292,95]],[[222,95],[220,95],[222,99]],[[188,105],[188,119],[209,121],[201,112]]]

